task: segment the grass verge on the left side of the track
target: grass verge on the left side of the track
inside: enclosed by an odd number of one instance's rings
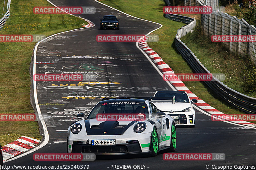
[[[41,34],[47,37],[87,24],[83,19],[68,14],[34,14],[34,6],[52,5],[44,0],[12,1],[10,18],[0,34]],[[34,113],[30,105],[29,64],[35,44],[0,42],[0,113]],[[1,145],[23,135],[42,138],[36,121],[0,122]]]

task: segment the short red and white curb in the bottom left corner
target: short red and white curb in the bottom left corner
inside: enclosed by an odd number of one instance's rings
[[[19,139],[2,146],[1,150],[3,153],[3,160],[6,161],[7,159],[11,159],[12,157],[21,154],[22,152],[26,152],[29,149],[37,146],[40,142],[40,140],[22,136]]]

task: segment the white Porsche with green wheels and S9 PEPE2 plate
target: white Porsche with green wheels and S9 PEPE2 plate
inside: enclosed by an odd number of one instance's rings
[[[145,99],[104,98],[84,118],[68,128],[68,153],[96,155],[148,153],[176,148],[176,128],[171,116],[159,112]]]

